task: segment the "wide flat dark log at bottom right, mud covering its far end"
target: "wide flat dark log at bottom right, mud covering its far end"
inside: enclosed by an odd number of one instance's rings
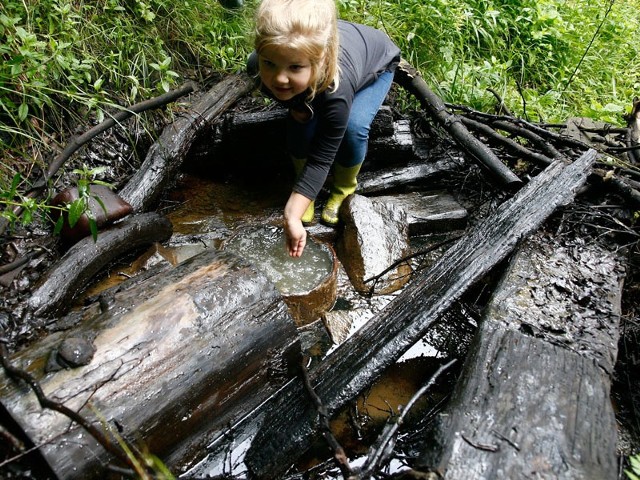
[[[623,261],[536,236],[486,309],[415,468],[442,478],[618,478],[611,376]]]

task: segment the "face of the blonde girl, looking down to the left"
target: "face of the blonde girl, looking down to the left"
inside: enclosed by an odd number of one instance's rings
[[[260,79],[282,101],[309,88],[311,62],[299,51],[286,46],[268,46],[260,53]]]

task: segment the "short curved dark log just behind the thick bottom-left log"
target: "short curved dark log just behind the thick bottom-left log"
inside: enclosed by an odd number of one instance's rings
[[[29,298],[29,308],[38,316],[66,313],[105,266],[136,248],[167,240],[172,231],[164,215],[143,213],[101,231],[95,242],[92,237],[80,240],[47,272]]]

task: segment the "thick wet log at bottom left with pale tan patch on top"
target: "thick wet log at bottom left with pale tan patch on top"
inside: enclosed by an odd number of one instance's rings
[[[282,296],[263,273],[229,253],[206,251],[121,289],[107,311],[86,312],[74,329],[48,335],[12,364],[35,377],[47,397],[99,429],[106,428],[104,419],[173,471],[299,366],[298,334]],[[52,349],[70,337],[93,343],[91,362],[45,374]],[[4,372],[0,398],[58,478],[106,478],[112,457],[77,425],[69,428],[66,417],[41,409]]]

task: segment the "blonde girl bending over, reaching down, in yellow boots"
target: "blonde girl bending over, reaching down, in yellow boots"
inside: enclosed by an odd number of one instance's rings
[[[400,50],[383,32],[338,20],[334,0],[262,0],[248,71],[289,108],[287,148],[297,179],[284,209],[289,255],[306,245],[314,200],[333,166],[321,220],[338,223],[356,190],[369,128],[384,101]],[[257,67],[256,67],[257,64]]]

